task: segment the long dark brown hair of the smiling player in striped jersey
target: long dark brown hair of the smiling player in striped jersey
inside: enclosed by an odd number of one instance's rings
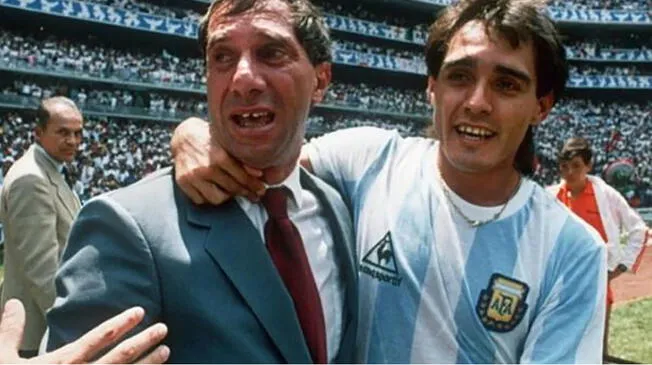
[[[430,27],[426,42],[428,75],[437,78],[448,46],[465,24],[480,21],[487,34],[504,38],[513,48],[532,42],[537,76],[537,98],[552,92],[553,105],[568,80],[568,63],[561,36],[545,12],[544,0],[460,0],[446,7]],[[534,173],[534,131],[530,126],[516,153],[514,167],[528,176]]]

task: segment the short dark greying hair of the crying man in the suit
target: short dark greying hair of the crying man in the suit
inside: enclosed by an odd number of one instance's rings
[[[248,10],[259,8],[270,0],[215,0],[199,24],[199,47],[202,56],[206,58],[208,46],[208,26],[213,14],[218,10],[227,9],[223,16],[234,16]],[[308,54],[310,62],[316,66],[323,62],[330,62],[331,39],[328,26],[319,8],[310,0],[279,0],[290,6],[292,13],[291,23],[294,34],[299,43]]]

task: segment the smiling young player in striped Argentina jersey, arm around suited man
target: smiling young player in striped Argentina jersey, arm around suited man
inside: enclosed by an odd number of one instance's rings
[[[302,152],[354,217],[358,361],[601,362],[604,244],[528,178],[532,128],[568,76],[543,4],[457,2],[431,27],[426,62],[431,138],[356,128]],[[173,141],[186,192],[220,203],[264,189],[251,182],[264,171],[192,152],[206,129],[188,121]]]

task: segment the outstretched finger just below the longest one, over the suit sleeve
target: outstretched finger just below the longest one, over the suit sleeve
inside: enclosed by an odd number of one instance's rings
[[[157,323],[143,332],[123,341],[114,349],[102,356],[99,364],[129,364],[147,353],[152,347],[160,343],[168,333],[168,328],[163,323]],[[169,351],[168,351],[169,352]],[[156,354],[154,355],[156,356]],[[158,356],[162,357],[162,356]],[[167,358],[166,358],[167,359]]]

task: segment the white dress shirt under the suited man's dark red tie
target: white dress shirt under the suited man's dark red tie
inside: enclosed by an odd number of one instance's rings
[[[288,216],[299,230],[319,290],[326,325],[328,361],[333,362],[342,337],[344,285],[334,252],[333,235],[323,208],[313,193],[301,187],[299,172],[297,166],[287,179],[270,187],[284,186],[291,192],[288,196]],[[243,197],[235,199],[260,233],[261,240],[265,242],[265,207],[260,203],[251,203]]]

